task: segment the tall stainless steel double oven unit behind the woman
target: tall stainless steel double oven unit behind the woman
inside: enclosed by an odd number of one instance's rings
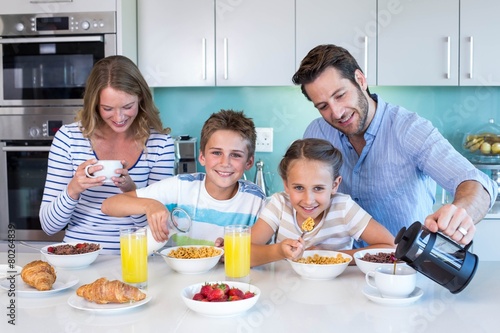
[[[0,0],[0,239],[9,224],[17,240],[62,239],[38,218],[50,144],[74,121],[93,65],[123,54],[134,10],[135,0]]]

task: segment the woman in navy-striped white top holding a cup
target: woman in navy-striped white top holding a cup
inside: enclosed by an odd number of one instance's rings
[[[100,243],[101,253],[119,254],[119,229],[147,225],[146,217],[110,217],[104,199],[173,175],[174,143],[164,129],[151,91],[137,66],[123,56],[98,61],[87,79],[76,122],[56,133],[49,153],[40,207],[42,229],[66,228],[65,242]],[[85,167],[97,160],[120,160],[113,183],[90,178]],[[95,165],[94,173],[102,169]]]

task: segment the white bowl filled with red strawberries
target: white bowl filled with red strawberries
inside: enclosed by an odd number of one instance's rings
[[[244,282],[204,282],[181,292],[186,306],[208,317],[232,317],[248,311],[260,297],[260,289]]]

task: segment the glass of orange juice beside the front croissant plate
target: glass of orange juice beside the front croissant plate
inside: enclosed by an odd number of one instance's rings
[[[123,282],[140,289],[148,286],[148,246],[146,228],[120,229]]]

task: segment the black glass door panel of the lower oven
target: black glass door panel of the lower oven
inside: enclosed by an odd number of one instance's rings
[[[38,213],[47,160],[47,151],[7,153],[9,218],[17,230],[41,230]]]

